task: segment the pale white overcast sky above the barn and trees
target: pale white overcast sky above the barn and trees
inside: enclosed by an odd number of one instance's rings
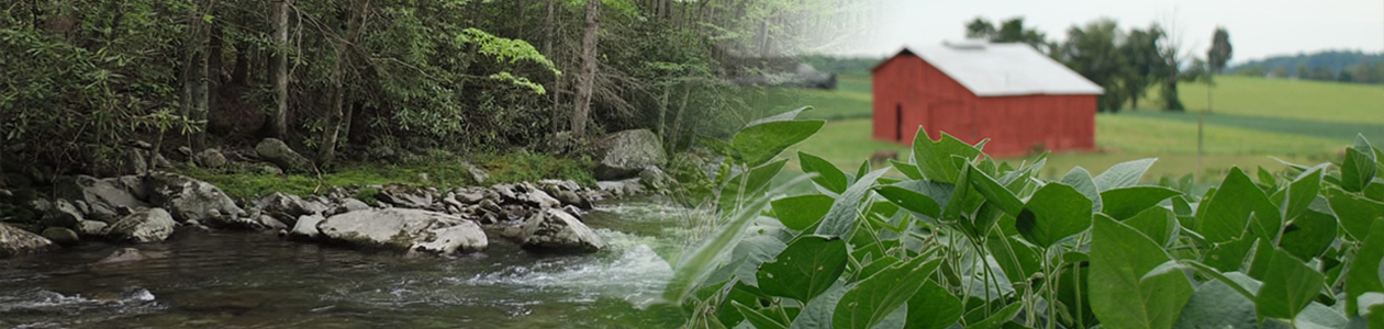
[[[1230,62],[1320,50],[1384,51],[1384,0],[873,0],[869,37],[844,55],[891,55],[905,44],[940,44],[966,35],[983,17],[1024,25],[1064,40],[1073,25],[1113,18],[1121,29],[1175,21],[1182,44],[1205,57],[1211,35],[1223,26],[1235,48]],[[1165,25],[1165,24],[1164,24]]]

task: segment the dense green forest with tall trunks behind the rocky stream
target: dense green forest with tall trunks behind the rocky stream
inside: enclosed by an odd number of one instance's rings
[[[671,147],[735,126],[716,124],[743,109],[724,77],[829,47],[803,36],[848,37],[811,32],[848,30],[859,11],[839,0],[8,1],[0,163],[115,174],[131,142],[197,153],[264,137],[321,169],[426,149],[565,153],[581,145],[565,141],[626,129]]]

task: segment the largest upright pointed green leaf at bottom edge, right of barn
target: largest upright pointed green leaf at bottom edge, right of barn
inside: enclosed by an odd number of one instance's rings
[[[1106,328],[1172,328],[1192,297],[1181,271],[1145,278],[1171,260],[1129,225],[1098,214],[1091,242],[1091,308]]]

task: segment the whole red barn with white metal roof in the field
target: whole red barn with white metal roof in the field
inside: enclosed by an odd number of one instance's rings
[[[918,127],[991,156],[1096,148],[1100,86],[1021,43],[904,48],[872,69],[875,138],[912,144]]]

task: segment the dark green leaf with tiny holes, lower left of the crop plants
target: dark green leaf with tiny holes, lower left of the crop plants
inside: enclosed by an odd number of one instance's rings
[[[770,296],[807,303],[841,278],[846,257],[843,239],[799,236],[774,261],[760,265],[756,278],[760,281],[760,290]]]

